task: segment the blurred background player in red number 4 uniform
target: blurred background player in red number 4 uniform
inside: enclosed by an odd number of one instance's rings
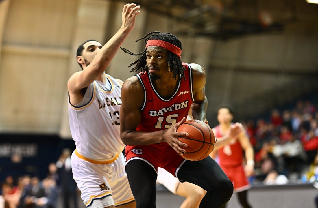
[[[217,138],[225,135],[230,129],[232,120],[232,107],[229,105],[220,106],[218,108],[219,125],[212,128],[214,135]],[[246,159],[245,167],[242,164],[243,151]],[[239,203],[244,208],[251,208],[252,206],[247,201],[247,190],[251,188],[247,177],[254,172],[254,151],[246,131],[243,129],[236,140],[232,140],[231,143],[221,147],[218,151],[212,151],[210,156],[215,158],[217,154],[221,168],[233,182],[234,192],[237,193]]]

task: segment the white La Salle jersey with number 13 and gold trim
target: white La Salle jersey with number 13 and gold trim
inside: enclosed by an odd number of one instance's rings
[[[106,77],[106,83],[95,80],[90,84],[79,104],[69,101],[68,106],[76,150],[96,161],[113,159],[125,146],[119,136],[121,87],[113,77]]]

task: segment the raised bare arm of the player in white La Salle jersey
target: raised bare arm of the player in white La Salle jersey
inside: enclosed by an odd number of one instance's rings
[[[72,104],[78,104],[83,98],[83,89],[90,85],[101,73],[105,71],[116,55],[119,47],[134,28],[135,17],[140,13],[134,3],[126,4],[122,11],[122,25],[117,33],[96,54],[92,63],[83,71],[74,73],[67,83]],[[98,50],[98,49],[96,49]],[[84,61],[83,57],[77,57],[78,61]]]

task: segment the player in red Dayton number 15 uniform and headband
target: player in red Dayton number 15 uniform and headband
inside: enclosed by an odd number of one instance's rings
[[[211,157],[185,160],[176,132],[192,109],[195,119],[204,121],[207,99],[206,75],[198,64],[182,63],[180,40],[170,34],[151,32],[145,37],[146,49],[132,63],[131,71],[141,72],[128,78],[121,89],[121,139],[126,144],[126,172],[138,208],[156,207],[157,169],[162,167],[181,182],[188,181],[207,191],[203,207],[224,207],[233,193],[232,182]],[[236,129],[232,133],[236,133]]]

